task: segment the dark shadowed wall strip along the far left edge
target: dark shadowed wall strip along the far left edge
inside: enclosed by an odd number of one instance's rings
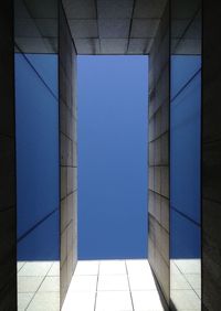
[[[17,308],[13,1],[0,11],[0,310]]]

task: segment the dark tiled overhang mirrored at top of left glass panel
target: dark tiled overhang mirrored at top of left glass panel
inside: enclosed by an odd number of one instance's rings
[[[14,1],[14,37],[23,53],[57,53],[57,0]]]

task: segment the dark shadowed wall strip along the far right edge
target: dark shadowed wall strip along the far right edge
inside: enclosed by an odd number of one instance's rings
[[[202,303],[221,304],[221,4],[203,1],[202,58]]]

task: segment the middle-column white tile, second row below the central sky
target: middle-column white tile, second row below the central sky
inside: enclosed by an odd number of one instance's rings
[[[97,290],[129,290],[127,276],[101,276]]]

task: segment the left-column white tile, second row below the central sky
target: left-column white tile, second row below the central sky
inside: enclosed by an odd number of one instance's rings
[[[74,276],[70,285],[70,291],[96,291],[96,276]]]

